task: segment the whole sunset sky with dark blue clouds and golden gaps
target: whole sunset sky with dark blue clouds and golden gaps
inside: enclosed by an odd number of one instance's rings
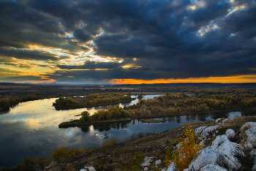
[[[0,82],[256,83],[256,3],[0,0]]]

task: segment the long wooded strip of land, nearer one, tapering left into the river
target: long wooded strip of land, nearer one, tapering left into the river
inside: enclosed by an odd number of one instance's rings
[[[59,127],[80,126],[99,123],[99,121],[127,121],[121,118],[151,118],[170,115],[185,115],[192,113],[215,112],[220,110],[244,110],[256,107],[254,91],[238,89],[225,94],[197,94],[195,96],[165,93],[154,99],[140,99],[137,104],[129,107],[107,107],[89,116],[87,111],[81,113],[81,118],[64,122]]]

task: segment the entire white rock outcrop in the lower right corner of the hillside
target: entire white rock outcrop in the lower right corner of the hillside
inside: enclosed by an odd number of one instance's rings
[[[201,134],[202,141],[200,145],[204,145],[204,141],[210,137],[221,124],[232,121],[232,119],[225,119],[222,122],[220,119],[215,123],[217,126],[201,126],[195,130],[195,135]],[[230,140],[238,140],[238,143]],[[252,170],[256,171],[256,123],[245,123],[241,126],[240,132],[236,134],[233,129],[227,129],[225,134],[218,135],[212,142],[212,145],[204,148],[191,161],[189,168],[184,171],[226,171],[241,169],[241,161],[239,159],[245,158],[244,148],[250,150],[250,156],[254,157],[254,166]],[[239,158],[239,159],[238,159]]]

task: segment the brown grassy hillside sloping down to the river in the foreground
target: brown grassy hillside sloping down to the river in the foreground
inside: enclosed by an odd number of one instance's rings
[[[223,121],[223,118],[220,120]],[[214,136],[225,134],[227,129],[233,129],[235,132],[239,132],[239,129],[246,122],[256,122],[256,116],[238,117],[232,120],[227,120],[225,124],[218,127],[217,132],[214,131]],[[200,126],[217,126],[218,122],[197,122],[192,123],[192,129],[197,129]],[[68,166],[72,168],[82,169],[83,167],[94,167],[95,170],[133,170],[138,167],[141,170],[140,163],[146,156],[153,156],[148,168],[151,170],[157,169],[155,161],[165,161],[165,154],[168,149],[174,149],[180,141],[179,138],[187,129],[188,123],[183,126],[178,126],[172,130],[165,131],[159,134],[153,134],[148,137],[143,137],[138,140],[132,140],[129,142],[122,142],[116,145],[111,145],[105,148],[99,148],[99,150],[89,151],[69,159],[60,164],[53,164],[45,171],[65,171],[68,170]],[[203,145],[205,147],[211,145],[211,142],[215,137],[207,139]],[[198,143],[199,141],[197,141]],[[138,157],[140,156],[140,158]],[[158,165],[158,168],[165,167],[165,163]]]

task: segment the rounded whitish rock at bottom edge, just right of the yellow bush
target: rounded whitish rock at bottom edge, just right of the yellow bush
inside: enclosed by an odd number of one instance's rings
[[[223,166],[224,156],[219,153],[217,148],[212,146],[204,148],[189,164],[189,170],[199,171],[208,164],[217,164],[219,167]]]

